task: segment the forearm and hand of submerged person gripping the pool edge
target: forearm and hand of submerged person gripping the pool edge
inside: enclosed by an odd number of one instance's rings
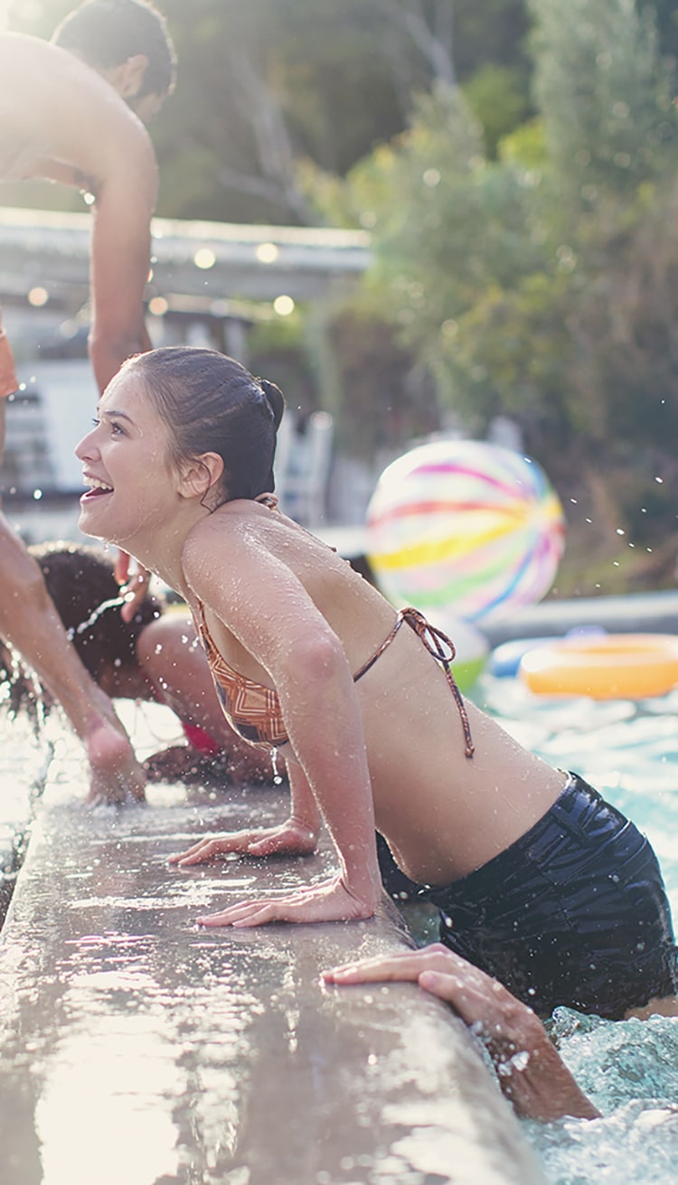
[[[485,972],[441,943],[324,972],[326,984],[410,981],[452,1005],[482,1038],[519,1115],[543,1121],[600,1112],[577,1087],[537,1016]]]

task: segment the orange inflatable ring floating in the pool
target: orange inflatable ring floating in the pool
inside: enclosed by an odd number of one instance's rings
[[[563,638],[523,655],[519,678],[539,696],[645,699],[678,684],[678,636]]]

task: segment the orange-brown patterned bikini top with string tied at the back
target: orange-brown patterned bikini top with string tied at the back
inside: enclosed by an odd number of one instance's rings
[[[447,634],[436,629],[435,626],[430,626],[417,609],[401,609],[392,629],[367,661],[363,664],[360,670],[356,672],[353,683],[358,683],[358,679],[362,679],[367,673],[377,659],[391,645],[403,621],[407,621],[408,626],[411,626],[428,652],[443,667],[461,717],[466,741],[466,756],[472,757],[473,742],[468,716],[449,667],[454,658],[454,646]],[[210,671],[212,672],[222,710],[231,728],[245,741],[249,741],[250,744],[261,749],[277,749],[280,745],[286,744],[289,737],[282,718],[277,692],[273,687],[264,687],[263,684],[248,679],[239,671],[235,671],[229,666],[212,641],[200,601],[198,601],[198,629],[207,655],[207,662],[210,664]]]

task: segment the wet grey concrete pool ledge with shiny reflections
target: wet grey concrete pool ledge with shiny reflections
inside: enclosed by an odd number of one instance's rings
[[[306,859],[177,871],[207,831],[284,816],[280,790],[153,788],[146,807],[38,807],[0,936],[1,1185],[538,1185],[465,1026],[412,985],[322,968],[409,943],[369,922],[204,930]]]

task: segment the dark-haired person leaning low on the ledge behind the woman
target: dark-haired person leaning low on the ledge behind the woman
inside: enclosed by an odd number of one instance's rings
[[[130,620],[108,556],[76,543],[28,549],[83,665],[111,699],[162,703],[177,715],[184,744],[143,762],[151,781],[270,782],[270,757],[230,728],[215,692],[205,652],[187,613],[166,611],[162,597],[146,595]],[[0,678],[15,713],[34,704],[26,672],[0,645]],[[40,690],[43,702],[45,691]],[[46,698],[49,703],[49,693]]]

